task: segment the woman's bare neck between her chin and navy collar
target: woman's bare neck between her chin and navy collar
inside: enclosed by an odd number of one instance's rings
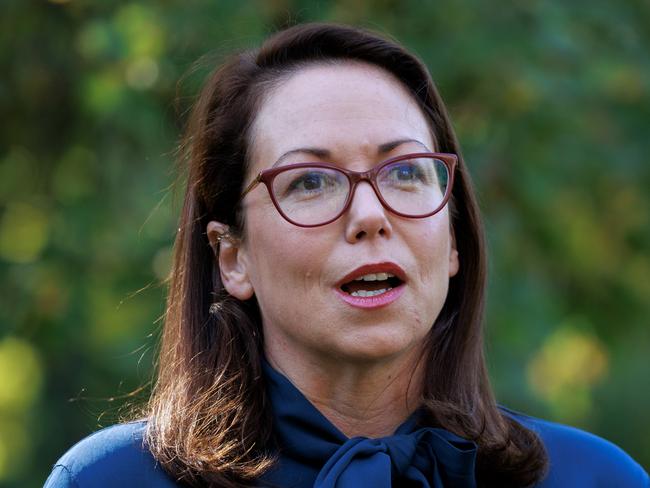
[[[352,364],[332,358],[301,362],[269,350],[266,356],[347,437],[391,435],[421,404],[420,350]]]

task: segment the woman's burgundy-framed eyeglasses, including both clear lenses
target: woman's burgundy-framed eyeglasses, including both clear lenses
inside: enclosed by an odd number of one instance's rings
[[[282,217],[299,227],[318,227],[343,215],[357,184],[367,181],[384,208],[418,219],[445,206],[457,162],[455,154],[415,153],[388,159],[369,171],[330,163],[288,164],[260,172],[241,198],[264,183]]]

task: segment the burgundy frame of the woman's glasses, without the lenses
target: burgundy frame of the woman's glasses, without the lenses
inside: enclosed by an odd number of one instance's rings
[[[392,163],[397,163],[399,161],[403,161],[406,159],[413,159],[413,158],[430,158],[430,159],[439,159],[442,161],[445,166],[447,166],[447,171],[449,172],[449,179],[447,181],[447,188],[445,190],[445,195],[442,198],[442,202],[438,207],[433,211],[433,212],[428,212],[425,214],[421,215],[408,215],[404,214],[402,212],[398,212],[395,210],[393,207],[391,207],[386,200],[384,200],[384,197],[382,197],[381,192],[379,191],[379,187],[377,186],[377,174],[379,171],[384,166],[387,166]],[[335,164],[332,163],[320,163],[320,162],[305,162],[305,163],[295,163],[295,164],[287,164],[285,166],[278,166],[275,168],[269,168],[265,169],[264,171],[261,171],[258,173],[258,175],[255,177],[253,181],[250,182],[250,184],[246,187],[246,189],[242,192],[241,196],[239,197],[240,201],[243,200],[243,198],[251,191],[253,188],[255,188],[257,185],[260,183],[264,183],[266,185],[266,189],[269,192],[269,196],[271,197],[271,201],[273,202],[273,205],[277,209],[277,211],[280,213],[280,215],[289,223],[296,225],[298,227],[320,227],[321,225],[327,225],[332,222],[334,222],[336,219],[338,219],[341,215],[343,215],[348,208],[350,207],[350,204],[352,203],[352,199],[354,198],[354,192],[357,189],[357,184],[360,181],[367,181],[370,183],[370,186],[372,186],[372,189],[375,192],[375,195],[377,195],[377,198],[381,202],[382,206],[388,210],[391,213],[394,213],[395,215],[399,215],[400,217],[405,217],[409,219],[422,219],[425,217],[431,217],[432,215],[435,215],[436,213],[440,212],[444,208],[444,206],[447,204],[449,201],[449,198],[451,197],[452,193],[452,188],[454,186],[454,172],[456,169],[456,165],[458,164],[458,156],[455,154],[449,154],[449,153],[430,153],[430,152],[421,152],[421,153],[411,153],[411,154],[403,154],[401,156],[396,156],[394,158],[387,159],[386,161],[379,163],[377,166],[375,166],[372,169],[369,169],[368,171],[352,171],[349,169],[341,168],[340,166],[336,166]],[[298,222],[294,222],[291,220],[283,211],[282,208],[280,207],[280,204],[278,201],[275,199],[275,194],[273,193],[273,180],[275,177],[289,169],[296,169],[296,168],[327,168],[327,169],[334,169],[337,171],[340,171],[343,173],[349,183],[350,183],[350,190],[348,191],[348,197],[343,204],[343,207],[341,208],[341,211],[336,214],[333,218],[327,220],[326,222],[318,223],[318,224],[299,224]]]

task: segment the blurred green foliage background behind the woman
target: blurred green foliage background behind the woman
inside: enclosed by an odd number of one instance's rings
[[[212,59],[306,20],[390,33],[430,67],[488,230],[499,401],[650,466],[647,1],[4,0],[0,14],[1,485],[41,486],[130,392],[146,397],[192,96]]]

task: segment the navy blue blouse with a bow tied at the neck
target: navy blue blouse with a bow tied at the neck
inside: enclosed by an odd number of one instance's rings
[[[291,382],[264,365],[279,461],[261,486],[474,488],[476,444],[420,427],[418,412],[388,437],[348,438]],[[550,459],[537,488],[650,488],[648,473],[614,444],[579,429],[500,407],[542,438]],[[179,487],[143,445],[145,422],[100,430],[54,465],[46,488]]]

